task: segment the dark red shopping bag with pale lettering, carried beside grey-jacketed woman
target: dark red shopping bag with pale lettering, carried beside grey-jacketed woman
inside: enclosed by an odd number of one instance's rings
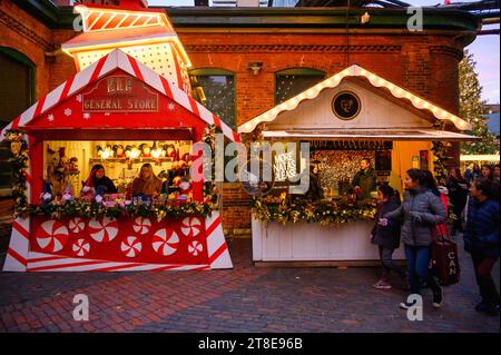
[[[458,284],[460,280],[460,264],[458,245],[449,237],[446,225],[433,228],[432,270],[442,286]]]

